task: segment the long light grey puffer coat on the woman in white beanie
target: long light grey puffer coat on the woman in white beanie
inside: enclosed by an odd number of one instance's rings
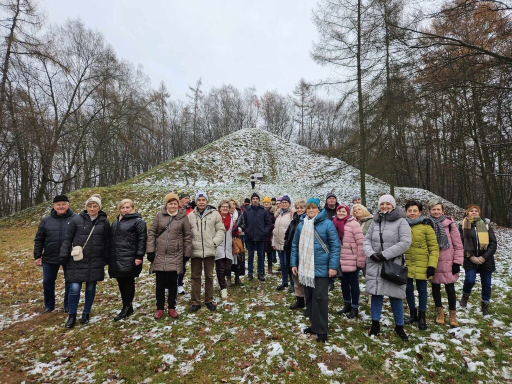
[[[363,242],[366,255],[366,292],[370,294],[406,297],[406,284],[396,285],[382,279],[380,276],[382,263],[376,263],[370,259],[372,254],[381,251],[379,233],[382,233],[383,257],[387,260],[394,259],[394,263],[401,265],[403,253],[411,246],[411,228],[405,217],[406,214],[401,207],[396,207],[382,217],[378,213],[373,215],[373,222]]]

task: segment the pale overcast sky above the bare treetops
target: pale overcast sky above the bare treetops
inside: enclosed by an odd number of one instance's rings
[[[225,84],[291,93],[301,77],[325,78],[309,52],[314,0],[40,0],[51,23],[81,18],[118,57],[141,64],[154,87],[163,80],[185,99],[201,77],[203,91]]]

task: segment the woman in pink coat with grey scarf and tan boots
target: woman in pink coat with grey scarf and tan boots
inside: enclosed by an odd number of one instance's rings
[[[457,306],[455,282],[459,279],[460,266],[464,263],[464,247],[455,221],[450,216],[444,215],[444,204],[439,200],[431,200],[428,208],[428,217],[434,222],[434,232],[439,244],[439,260],[431,281],[432,297],[434,297],[437,313],[436,323],[444,324],[444,311],[441,304],[441,284],[444,284],[448,296],[450,326],[458,327],[455,311]]]

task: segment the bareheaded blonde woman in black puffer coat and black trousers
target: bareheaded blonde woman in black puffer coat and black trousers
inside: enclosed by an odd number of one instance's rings
[[[117,279],[123,307],[114,317],[117,322],[133,313],[135,278],[142,271],[146,251],[146,222],[130,199],[123,199],[117,206],[119,215],[110,232],[109,276]]]

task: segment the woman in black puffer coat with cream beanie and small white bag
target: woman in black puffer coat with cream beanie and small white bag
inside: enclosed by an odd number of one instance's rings
[[[94,194],[86,201],[86,210],[81,211],[69,223],[60,247],[59,259],[62,264],[66,264],[66,284],[70,285],[66,328],[75,326],[82,283],[86,283],[86,300],[81,323],[89,323],[96,283],[105,278],[109,233],[110,223],[105,212],[101,210],[101,196]],[[72,248],[77,245],[83,247],[83,259],[80,261],[74,261],[71,255]]]

